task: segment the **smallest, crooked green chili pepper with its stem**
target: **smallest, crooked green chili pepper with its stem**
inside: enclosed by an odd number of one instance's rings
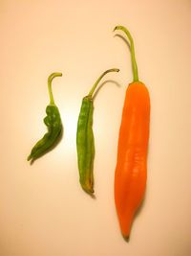
[[[62,122],[59,110],[53,101],[52,81],[55,77],[61,77],[61,73],[53,73],[48,78],[48,89],[50,96],[50,104],[46,107],[47,116],[44,118],[44,123],[48,128],[48,132],[39,140],[32,148],[31,154],[28,156],[28,161],[35,160],[42,154],[47,152],[58,140],[62,131]]]

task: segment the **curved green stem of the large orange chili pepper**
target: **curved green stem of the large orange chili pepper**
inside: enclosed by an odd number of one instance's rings
[[[117,26],[114,31],[116,30],[121,30],[123,31],[127,37],[129,38],[130,41],[130,50],[131,50],[131,58],[132,58],[132,69],[133,69],[133,76],[134,76],[134,81],[138,81],[138,65],[136,62],[136,56],[135,56],[135,48],[134,48],[134,40],[130,32],[123,26]]]

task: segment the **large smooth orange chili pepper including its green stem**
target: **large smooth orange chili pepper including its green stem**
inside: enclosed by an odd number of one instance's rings
[[[134,80],[126,90],[117,147],[115,202],[120,230],[128,240],[135,214],[145,193],[147,150],[150,123],[150,97],[147,87],[138,81],[134,41],[129,31],[117,26],[130,41]]]

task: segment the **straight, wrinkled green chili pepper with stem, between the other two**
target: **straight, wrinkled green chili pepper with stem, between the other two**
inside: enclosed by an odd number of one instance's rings
[[[113,68],[105,71],[96,81],[90,93],[82,100],[79,112],[76,132],[76,149],[79,170],[79,182],[82,189],[90,194],[94,194],[94,158],[95,140],[93,132],[93,111],[94,98],[98,82],[109,72],[118,72],[119,69]]]

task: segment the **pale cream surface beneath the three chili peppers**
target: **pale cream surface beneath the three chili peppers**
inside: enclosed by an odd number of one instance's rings
[[[113,198],[117,134],[132,80],[116,25],[134,36],[152,105],[147,193],[129,243]],[[0,35],[0,255],[191,255],[191,1],[1,0]],[[78,183],[76,122],[82,97],[113,67],[120,73],[107,75],[95,101],[93,199]],[[46,130],[52,72],[63,72],[53,94],[64,136],[31,166],[26,158]]]

